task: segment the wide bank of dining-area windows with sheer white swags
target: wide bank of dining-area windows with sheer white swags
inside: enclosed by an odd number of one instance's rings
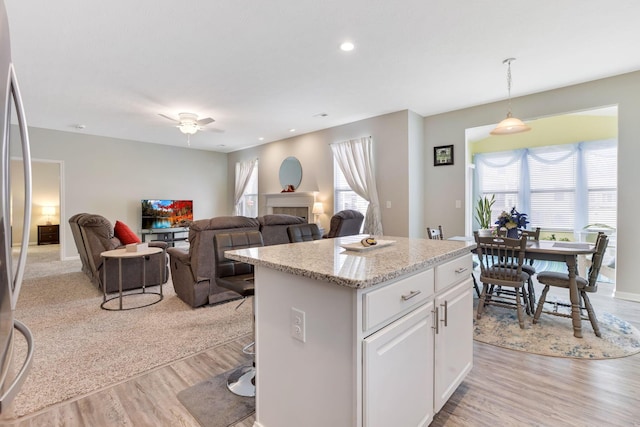
[[[529,227],[616,227],[617,141],[477,154],[476,198],[495,194],[493,221],[513,206]]]

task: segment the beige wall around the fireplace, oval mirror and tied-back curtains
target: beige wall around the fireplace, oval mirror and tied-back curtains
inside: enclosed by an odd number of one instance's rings
[[[411,126],[410,126],[411,124]],[[411,130],[411,139],[409,137]],[[295,156],[302,165],[302,182],[298,191],[318,191],[318,201],[324,203],[325,214],[320,222],[326,231],[333,215],[333,157],[329,144],[363,136],[373,138],[376,162],[376,185],[382,212],[382,227],[389,236],[424,237],[424,231],[415,224],[421,219],[411,215],[409,207],[408,169],[422,165],[409,163],[410,154],[422,152],[422,117],[410,111],[399,111],[383,116],[360,120],[342,126],[336,126],[311,132],[305,135],[264,144],[258,147],[236,151],[229,154],[228,180],[230,209],[233,208],[234,168],[236,162],[252,158],[259,159],[258,187],[260,194],[278,193],[282,188],[278,180],[280,163],[288,156]],[[411,141],[411,144],[409,143]],[[411,153],[410,153],[411,145]],[[420,163],[418,157],[418,162]],[[418,175],[419,176],[419,175]],[[420,192],[421,184],[412,187],[413,193]],[[391,208],[386,202],[391,202]],[[260,214],[265,213],[264,199],[260,199]],[[417,207],[418,212],[422,203]],[[420,213],[421,217],[422,214]],[[413,221],[411,221],[413,219]]]

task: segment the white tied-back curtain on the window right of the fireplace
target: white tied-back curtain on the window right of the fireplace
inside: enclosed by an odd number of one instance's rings
[[[364,218],[363,232],[382,236],[382,215],[378,189],[373,170],[373,143],[371,137],[352,139],[331,144],[338,166],[351,189],[369,202]]]

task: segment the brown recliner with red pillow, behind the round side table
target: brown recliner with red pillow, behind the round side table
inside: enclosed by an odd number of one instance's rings
[[[105,260],[100,256],[104,251],[124,248],[122,242],[115,237],[113,224],[101,215],[78,214],[69,218],[69,225],[74,234],[78,254],[83,262],[82,270],[100,289],[106,289],[107,293],[117,292],[119,288],[119,260],[106,259],[107,277],[105,278]],[[167,281],[168,268],[165,252],[167,244],[151,242],[149,246],[159,247],[163,251],[150,255],[146,259],[147,262],[144,263],[140,258],[122,259],[122,290],[142,287],[142,265],[145,268],[146,286],[155,286]],[[162,270],[158,263],[163,266]]]

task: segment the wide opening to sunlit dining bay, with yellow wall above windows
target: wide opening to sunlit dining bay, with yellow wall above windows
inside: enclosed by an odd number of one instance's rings
[[[467,129],[467,233],[478,228],[473,208],[479,195],[494,194],[493,221],[517,205],[531,227],[541,227],[541,239],[589,241],[597,231],[608,234],[601,275],[615,282],[618,107],[527,123],[532,131],[517,135],[489,136],[493,126]]]

